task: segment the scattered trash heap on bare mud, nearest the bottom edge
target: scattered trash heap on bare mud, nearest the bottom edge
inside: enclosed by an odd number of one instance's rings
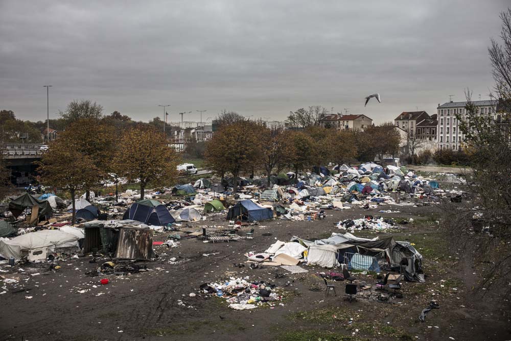
[[[250,282],[248,277],[231,277],[223,283],[204,283],[200,288],[204,294],[225,298],[229,308],[235,310],[253,309],[264,304],[274,306],[271,302],[282,300],[282,296],[275,292],[274,284]]]

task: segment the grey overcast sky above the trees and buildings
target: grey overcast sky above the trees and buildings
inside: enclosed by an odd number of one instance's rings
[[[377,123],[487,99],[507,1],[0,0],[0,109],[44,120],[74,99],[137,120],[220,110],[284,120],[310,105]],[[379,92],[382,103],[364,97]]]

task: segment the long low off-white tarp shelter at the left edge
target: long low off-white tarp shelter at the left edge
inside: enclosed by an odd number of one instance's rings
[[[54,252],[56,248],[78,247],[78,237],[59,230],[41,230],[17,236],[11,240],[0,240],[0,255],[4,258],[22,259],[30,250],[48,248]]]

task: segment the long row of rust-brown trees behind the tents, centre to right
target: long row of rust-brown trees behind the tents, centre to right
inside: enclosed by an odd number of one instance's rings
[[[296,173],[329,162],[370,161],[376,155],[398,153],[400,136],[392,124],[367,127],[364,131],[308,126],[301,130],[271,130],[263,124],[237,120],[223,125],[205,145],[206,165],[222,178],[244,172],[267,176],[285,167]]]

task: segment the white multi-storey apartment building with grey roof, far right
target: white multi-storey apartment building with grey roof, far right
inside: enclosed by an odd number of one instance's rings
[[[496,117],[497,100],[487,101],[472,101],[477,107],[477,114],[492,115]],[[442,105],[438,104],[437,109],[437,138],[438,149],[461,149],[464,135],[459,131],[459,122],[456,119],[456,114],[461,115],[461,118],[466,117],[465,106],[467,102],[448,102]]]

